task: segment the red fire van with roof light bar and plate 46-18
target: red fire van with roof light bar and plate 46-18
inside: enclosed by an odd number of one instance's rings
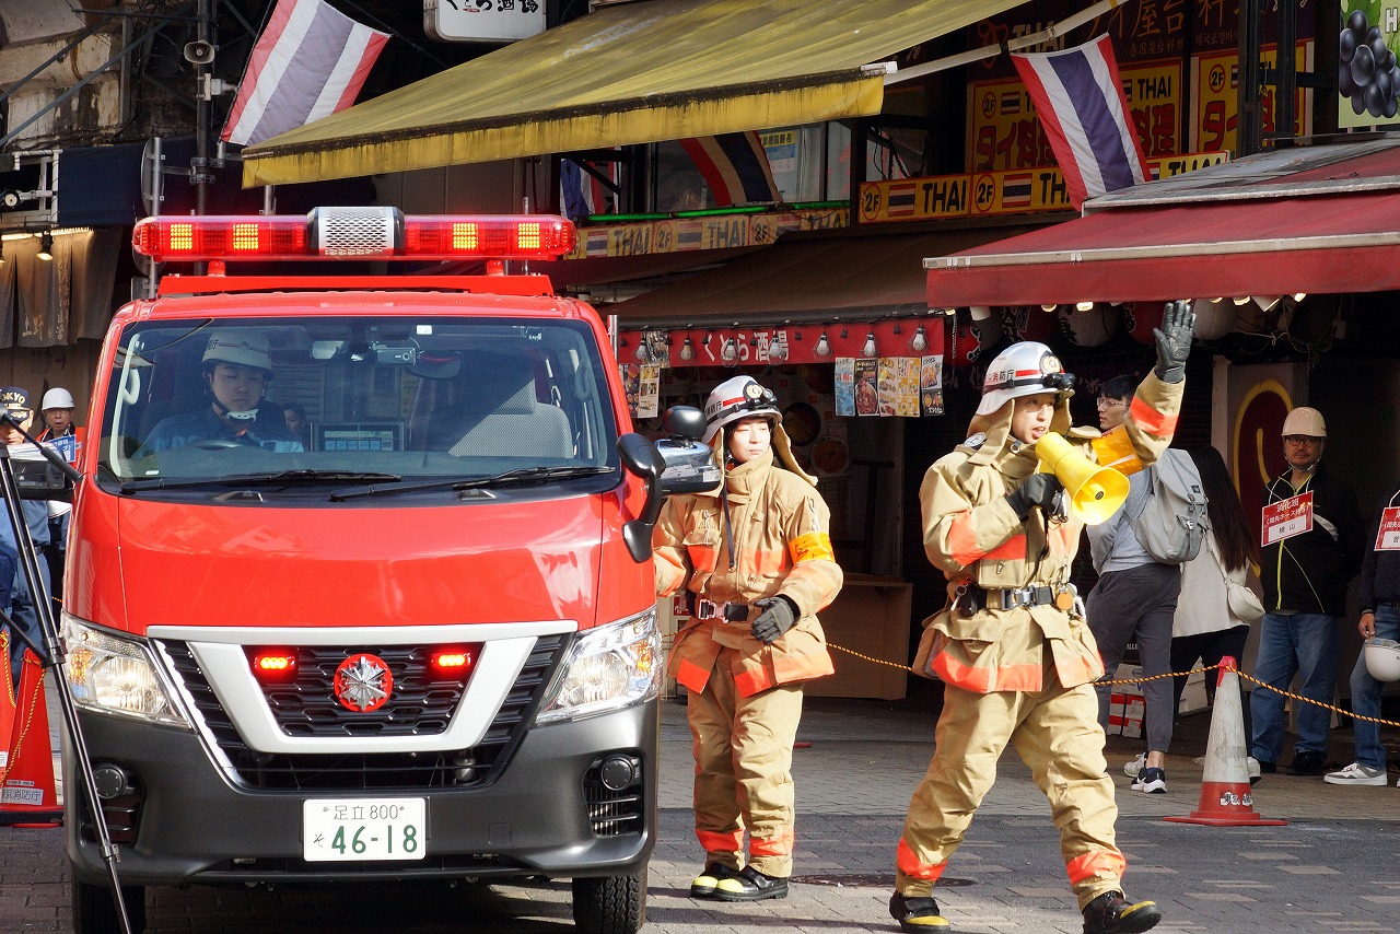
[[[571,224],[318,209],[134,241],[209,270],[116,314],[88,414],[60,629],[102,814],[69,786],[76,930],[119,930],[95,819],[137,931],[146,886],[510,877],[638,930],[650,525],[718,475],[631,433],[592,308],[505,273]],[[486,273],[225,274],[332,258]]]

